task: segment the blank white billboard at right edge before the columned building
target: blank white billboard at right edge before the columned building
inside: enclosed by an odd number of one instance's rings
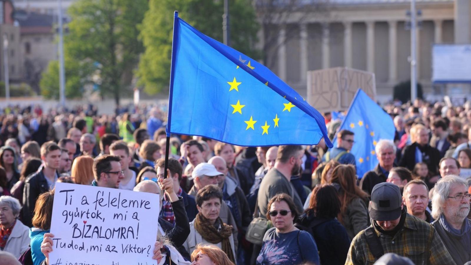
[[[432,82],[471,82],[471,45],[435,44],[432,62]]]

